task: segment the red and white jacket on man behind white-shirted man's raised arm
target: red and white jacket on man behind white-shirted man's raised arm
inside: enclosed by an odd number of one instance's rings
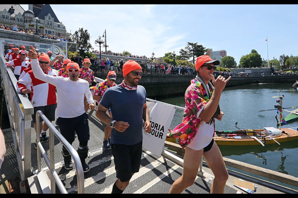
[[[58,76],[58,71],[51,67],[44,73],[51,76]],[[31,83],[31,103],[33,107],[57,104],[56,87],[35,78],[32,70],[28,71],[23,78],[18,80],[17,91],[21,93],[24,89],[28,88]]]

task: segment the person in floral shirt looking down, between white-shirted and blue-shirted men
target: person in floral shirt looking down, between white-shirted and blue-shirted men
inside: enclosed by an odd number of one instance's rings
[[[91,90],[93,90],[93,99],[97,100],[97,104],[99,104],[103,94],[108,88],[114,87],[115,85],[117,85],[115,83],[116,78],[117,78],[116,72],[109,71],[108,75],[106,76],[106,80],[91,87]],[[110,118],[112,118],[111,108],[108,109],[108,114]],[[104,131],[105,131],[105,136],[103,138],[103,147],[108,149],[108,148],[111,148],[110,137],[111,137],[112,128],[106,124]]]

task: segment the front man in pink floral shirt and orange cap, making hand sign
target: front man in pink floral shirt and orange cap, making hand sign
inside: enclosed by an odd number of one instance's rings
[[[196,59],[197,76],[185,92],[185,109],[182,123],[170,131],[170,136],[180,140],[185,149],[183,174],[173,184],[169,193],[182,193],[194,183],[202,157],[214,174],[210,193],[224,193],[228,180],[228,171],[220,150],[213,140],[215,134],[215,119],[221,120],[224,113],[219,108],[219,99],[227,82],[219,75],[215,80],[214,65],[218,60],[212,60],[208,55]],[[210,82],[212,80],[212,83]]]

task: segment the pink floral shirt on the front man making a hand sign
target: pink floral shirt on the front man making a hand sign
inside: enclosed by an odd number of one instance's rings
[[[209,89],[210,95],[212,96],[213,90],[212,88]],[[210,98],[201,85],[201,82],[197,79],[191,80],[191,84],[185,92],[185,109],[182,123],[176,126],[173,130],[169,129],[170,136],[178,138],[182,148],[186,147],[196,136],[197,129],[202,123],[201,118],[197,118],[196,114],[209,100]],[[213,136],[214,133],[215,131],[213,132]]]

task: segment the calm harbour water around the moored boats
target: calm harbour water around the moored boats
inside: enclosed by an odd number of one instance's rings
[[[292,84],[293,83],[251,84],[225,88],[219,103],[225,115],[222,121],[215,121],[215,130],[237,130],[235,127],[236,122],[238,123],[237,127],[246,129],[277,127],[275,110],[258,111],[274,109],[274,105],[278,103],[275,102],[276,98],[272,97],[281,96],[282,94],[285,96],[283,99],[283,107],[298,106],[298,92],[296,88],[292,88]],[[184,96],[166,99],[157,98],[156,100],[181,107],[185,106]],[[287,110],[291,111],[294,109]],[[288,114],[288,112],[283,111],[284,117]],[[170,127],[171,129],[181,123],[182,116],[183,111],[176,110]],[[294,127],[293,129],[297,130],[298,121],[282,126],[282,128],[285,127]],[[281,143],[281,145],[265,144],[264,147],[262,145],[237,147],[220,146],[220,150],[224,157],[298,177],[298,140]],[[259,178],[268,180],[262,177]],[[271,182],[278,183],[274,180]],[[282,183],[278,184],[288,186]],[[297,187],[291,188],[298,190]]]

